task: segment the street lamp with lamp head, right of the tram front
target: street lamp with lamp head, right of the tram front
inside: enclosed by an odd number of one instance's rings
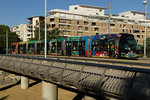
[[[143,4],[145,5],[145,34],[144,34],[144,58],[146,58],[146,17],[147,17],[147,0],[143,1]]]

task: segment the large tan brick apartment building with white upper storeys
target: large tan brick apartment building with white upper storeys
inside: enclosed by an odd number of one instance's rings
[[[69,10],[53,9],[49,11],[47,24],[49,30],[59,28],[63,36],[90,36],[108,34],[108,19],[104,7],[72,5]],[[145,34],[150,37],[150,20],[145,20],[145,13],[127,11],[111,15],[110,33],[131,33],[142,44]]]

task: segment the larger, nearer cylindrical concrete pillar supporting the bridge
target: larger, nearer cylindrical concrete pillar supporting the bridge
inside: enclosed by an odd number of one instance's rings
[[[42,81],[42,100],[57,100],[58,88],[56,85]]]

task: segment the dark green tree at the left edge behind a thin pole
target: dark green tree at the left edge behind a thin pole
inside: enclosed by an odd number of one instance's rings
[[[19,42],[20,39],[17,34],[10,31],[6,25],[0,25],[0,53],[6,52],[6,31],[8,31],[8,46],[12,42]]]

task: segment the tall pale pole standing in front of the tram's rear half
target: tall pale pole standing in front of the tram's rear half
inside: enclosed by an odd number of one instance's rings
[[[47,0],[45,0],[45,58],[47,56],[47,26],[46,26],[46,17],[47,17]]]

